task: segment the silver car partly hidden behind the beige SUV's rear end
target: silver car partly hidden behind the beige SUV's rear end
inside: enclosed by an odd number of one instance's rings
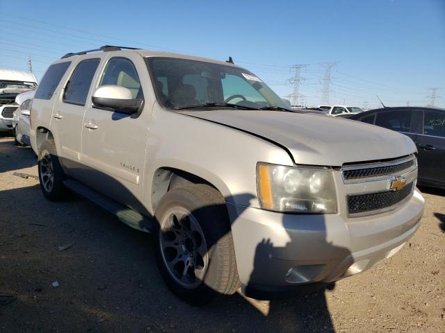
[[[29,133],[31,125],[29,123],[29,115],[31,113],[31,103],[34,98],[35,91],[22,92],[15,97],[15,103],[19,107],[13,113],[13,131],[15,144],[23,144],[31,146]]]

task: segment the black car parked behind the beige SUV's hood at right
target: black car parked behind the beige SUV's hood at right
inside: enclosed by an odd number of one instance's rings
[[[398,107],[354,114],[349,119],[396,130],[417,146],[419,185],[445,189],[445,109]]]

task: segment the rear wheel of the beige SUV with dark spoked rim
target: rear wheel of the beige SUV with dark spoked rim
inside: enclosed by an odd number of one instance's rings
[[[43,195],[51,201],[65,199],[67,189],[63,186],[63,180],[66,177],[58,160],[54,140],[46,140],[40,147],[38,172]]]

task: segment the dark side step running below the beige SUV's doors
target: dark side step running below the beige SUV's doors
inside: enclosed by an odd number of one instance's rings
[[[115,215],[120,221],[129,225],[131,228],[144,232],[152,232],[154,230],[154,219],[100,194],[98,191],[83,185],[77,180],[66,179],[63,181],[63,185],[65,185],[67,189],[79,194],[79,196],[83,196],[83,198],[104,208],[104,210],[108,210],[108,212],[111,212],[111,214]]]

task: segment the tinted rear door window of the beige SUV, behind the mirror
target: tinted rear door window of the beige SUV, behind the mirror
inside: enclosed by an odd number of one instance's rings
[[[99,61],[99,59],[87,59],[77,65],[65,87],[64,102],[85,105]]]

